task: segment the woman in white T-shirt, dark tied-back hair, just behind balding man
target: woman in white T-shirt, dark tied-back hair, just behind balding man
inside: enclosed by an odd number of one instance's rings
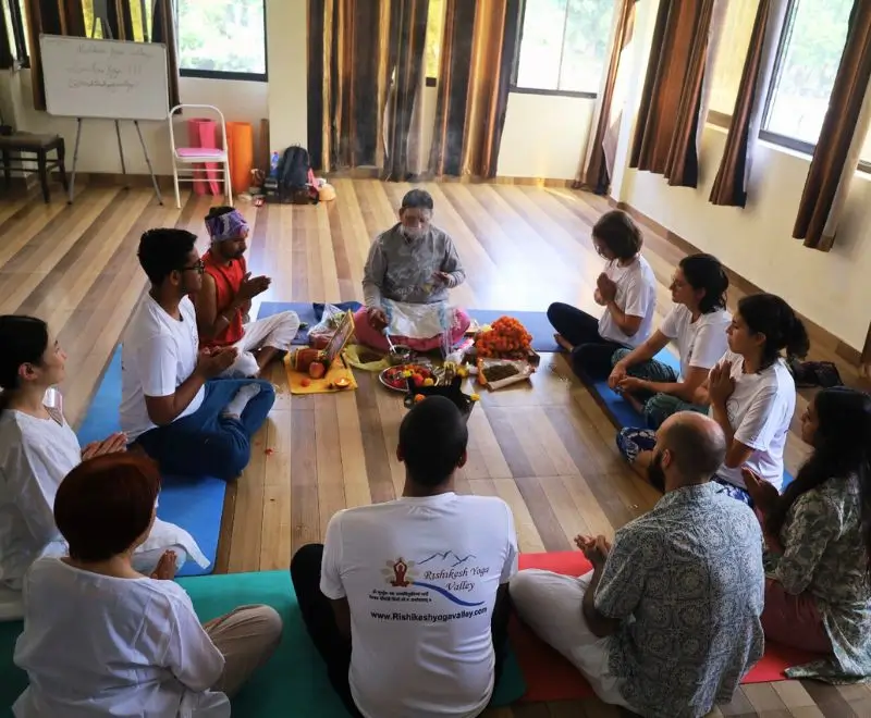
[[[783,484],[783,449],[796,408],[796,385],[781,356],[805,357],[808,334],[780,297],[744,297],[726,332],[728,351],[711,370],[699,397],[726,435],[726,460],[713,481],[733,497],[752,505],[741,469],[748,468],[774,488]],[[646,474],[657,440],[649,429],[617,433],[621,453]],[[658,486],[662,490],[662,486]]]

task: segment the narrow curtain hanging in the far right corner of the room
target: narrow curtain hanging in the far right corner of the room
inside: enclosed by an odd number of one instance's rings
[[[614,170],[617,151],[616,138],[626,100],[627,72],[630,70],[626,58],[635,29],[635,9],[637,0],[621,0],[614,16],[614,32],[611,34],[611,59],[608,63],[603,87],[596,98],[591,129],[581,166],[575,180],[576,188],[582,187],[597,195],[608,193]]]

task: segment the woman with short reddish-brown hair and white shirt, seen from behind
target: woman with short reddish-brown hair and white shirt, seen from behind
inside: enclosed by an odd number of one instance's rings
[[[228,694],[278,646],[281,618],[268,606],[200,626],[172,581],[172,552],[151,577],[133,568],[159,492],[157,465],[136,454],[89,459],[61,483],[54,520],[70,555],[40,558],[25,577],[14,660],[30,684],[16,718],[223,718]]]

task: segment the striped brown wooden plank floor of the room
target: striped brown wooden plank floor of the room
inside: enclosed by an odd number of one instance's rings
[[[394,221],[408,186],[352,180],[335,186],[339,199],[316,208],[241,205],[252,224],[250,269],[273,277],[262,300],[360,298],[370,239]],[[608,209],[603,199],[511,185],[427,188],[436,223],[454,237],[468,274],[454,295],[458,304],[511,311],[565,300],[593,310],[601,260],[589,233]],[[205,236],[209,203],[189,196],[179,211],[156,206],[147,189],[118,187],[84,188],[72,207],[60,199],[44,206],[0,198],[0,313],[42,317],[58,333],[70,356],[62,389],[72,423],[83,418],[145,288],[136,260],[139,235],[174,225]],[[646,253],[660,281],[662,315],[682,252],[647,231]],[[283,569],[295,548],[322,540],[336,510],[389,500],[401,491],[394,446],[403,409],[395,396],[370,376],[360,377],[356,393],[315,397],[291,397],[280,367],[271,379],[279,397],[250,466],[229,492],[219,572]],[[800,411],[803,399],[799,405]],[[505,499],[524,552],[569,549],[577,533],[613,535],[657,500],[622,462],[614,429],[562,357],[544,358],[531,388],[486,394],[470,429],[459,491]],[[803,454],[790,437],[790,469]],[[486,715],[619,714],[590,700]],[[749,685],[712,715],[871,716],[871,690],[797,681]]]

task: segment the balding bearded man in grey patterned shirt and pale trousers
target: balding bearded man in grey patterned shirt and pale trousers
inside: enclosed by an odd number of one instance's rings
[[[713,420],[673,414],[649,469],[665,485],[653,509],[613,546],[576,538],[590,573],[526,570],[511,582],[518,615],[606,703],[703,716],[732,700],[762,655],[762,536],[752,510],[710,481],[725,451]]]

